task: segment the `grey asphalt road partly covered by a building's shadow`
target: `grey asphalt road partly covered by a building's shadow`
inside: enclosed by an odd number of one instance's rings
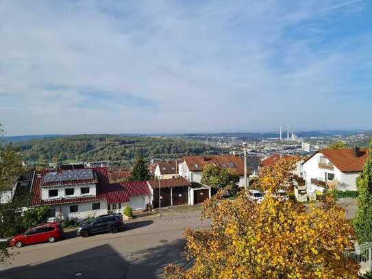
[[[69,232],[55,243],[12,248],[15,254],[0,265],[0,278],[160,278],[167,264],[187,264],[184,230],[209,225],[193,212],[134,219],[117,234],[83,239]]]

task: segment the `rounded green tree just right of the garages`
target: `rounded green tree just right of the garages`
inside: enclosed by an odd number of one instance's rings
[[[239,175],[231,169],[215,166],[212,164],[206,165],[201,176],[201,183],[211,186],[214,189],[222,189],[230,186],[230,189],[235,192],[237,190],[237,182]]]

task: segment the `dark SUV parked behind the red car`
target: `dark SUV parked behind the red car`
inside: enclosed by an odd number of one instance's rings
[[[123,228],[124,222],[121,215],[101,215],[90,222],[82,223],[76,232],[77,235],[87,237],[98,232],[112,232],[116,234]]]

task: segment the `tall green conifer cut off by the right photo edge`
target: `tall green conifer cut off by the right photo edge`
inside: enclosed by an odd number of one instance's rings
[[[354,229],[360,243],[372,241],[372,141],[369,158],[363,172],[356,180],[358,188],[358,212],[354,219]]]

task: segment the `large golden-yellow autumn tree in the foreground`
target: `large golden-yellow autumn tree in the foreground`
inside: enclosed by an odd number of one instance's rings
[[[354,247],[353,228],[345,210],[327,196],[307,210],[292,200],[277,199],[292,187],[295,159],[283,158],[260,175],[267,191],[262,203],[234,200],[219,191],[204,204],[210,230],[187,230],[186,254],[193,265],[169,265],[165,278],[358,278],[359,266],[343,252]]]

